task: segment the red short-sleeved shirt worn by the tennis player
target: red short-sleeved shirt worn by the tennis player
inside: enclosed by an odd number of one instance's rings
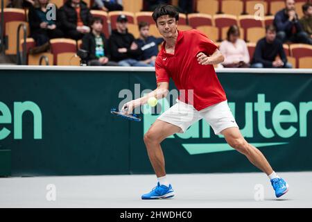
[[[198,64],[198,53],[208,56],[218,48],[205,34],[195,29],[178,31],[174,54],[166,53],[165,44],[155,61],[157,83],[169,82],[172,78],[180,92],[180,101],[193,105],[196,110],[227,99],[214,66]],[[188,89],[193,89],[193,99]]]

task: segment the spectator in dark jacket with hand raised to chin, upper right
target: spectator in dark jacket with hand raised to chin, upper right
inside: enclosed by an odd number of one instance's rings
[[[295,0],[286,0],[286,8],[276,13],[274,25],[277,28],[277,38],[281,42],[300,42],[312,44],[309,35],[303,31],[295,12]]]

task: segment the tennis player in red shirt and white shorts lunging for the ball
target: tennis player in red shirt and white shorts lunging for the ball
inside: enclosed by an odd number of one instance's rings
[[[200,31],[178,31],[179,13],[173,6],[158,6],[153,12],[153,19],[164,37],[164,44],[155,61],[157,89],[125,103],[123,110],[128,108],[128,112],[132,112],[137,106],[147,103],[151,96],[157,99],[165,97],[169,78],[173,79],[180,92],[184,90],[184,94],[180,93],[177,103],[160,115],[144,135],[148,157],[157,176],[157,186],[141,198],[173,198],[175,191],[166,177],[160,143],[170,135],[184,133],[200,119],[205,119],[216,135],[224,135],[229,146],[268,175],[277,197],[286,194],[288,184],[272,170],[261,151],[244,139],[229,110],[227,97],[213,66],[224,60],[216,44]]]

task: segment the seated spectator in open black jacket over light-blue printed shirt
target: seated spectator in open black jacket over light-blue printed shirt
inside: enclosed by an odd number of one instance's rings
[[[117,66],[110,61],[110,48],[104,33],[102,33],[103,20],[100,17],[92,18],[92,31],[83,37],[81,49],[88,51],[87,63],[92,66]]]

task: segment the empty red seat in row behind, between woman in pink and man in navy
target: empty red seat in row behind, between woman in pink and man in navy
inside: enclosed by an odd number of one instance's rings
[[[248,29],[252,28],[251,31],[254,32],[255,37],[263,37],[263,22],[261,20],[254,19],[253,15],[241,15],[239,16],[239,26],[244,29],[244,40],[249,42],[257,42],[256,39],[251,39],[248,36]],[[253,34],[250,32],[250,34]],[[260,35],[260,36],[259,36]]]

